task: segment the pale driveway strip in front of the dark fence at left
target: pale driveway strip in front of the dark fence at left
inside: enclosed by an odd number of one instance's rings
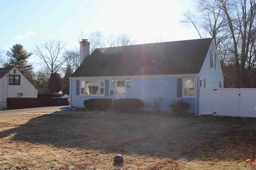
[[[28,109],[14,109],[14,110],[2,110],[0,115],[6,114],[20,114],[20,113],[51,113],[54,111],[60,111],[60,108],[69,106],[50,106],[50,107],[35,107]]]

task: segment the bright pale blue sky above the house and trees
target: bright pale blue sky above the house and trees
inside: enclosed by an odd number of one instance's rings
[[[192,0],[0,0],[0,50],[15,43],[32,52],[36,43],[61,40],[78,48],[78,37],[92,31],[126,33],[137,44],[200,38],[192,26],[180,23]],[[39,61],[32,56],[30,62]]]

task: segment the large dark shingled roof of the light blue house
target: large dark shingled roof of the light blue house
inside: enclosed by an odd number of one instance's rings
[[[199,73],[212,38],[96,49],[72,77]]]

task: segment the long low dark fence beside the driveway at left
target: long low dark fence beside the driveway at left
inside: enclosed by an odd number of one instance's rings
[[[69,105],[67,98],[7,98],[8,110],[66,105]]]

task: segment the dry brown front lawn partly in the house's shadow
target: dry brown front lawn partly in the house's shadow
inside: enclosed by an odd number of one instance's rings
[[[0,115],[0,169],[253,168],[255,122],[170,113]],[[113,165],[116,154],[123,165]]]

